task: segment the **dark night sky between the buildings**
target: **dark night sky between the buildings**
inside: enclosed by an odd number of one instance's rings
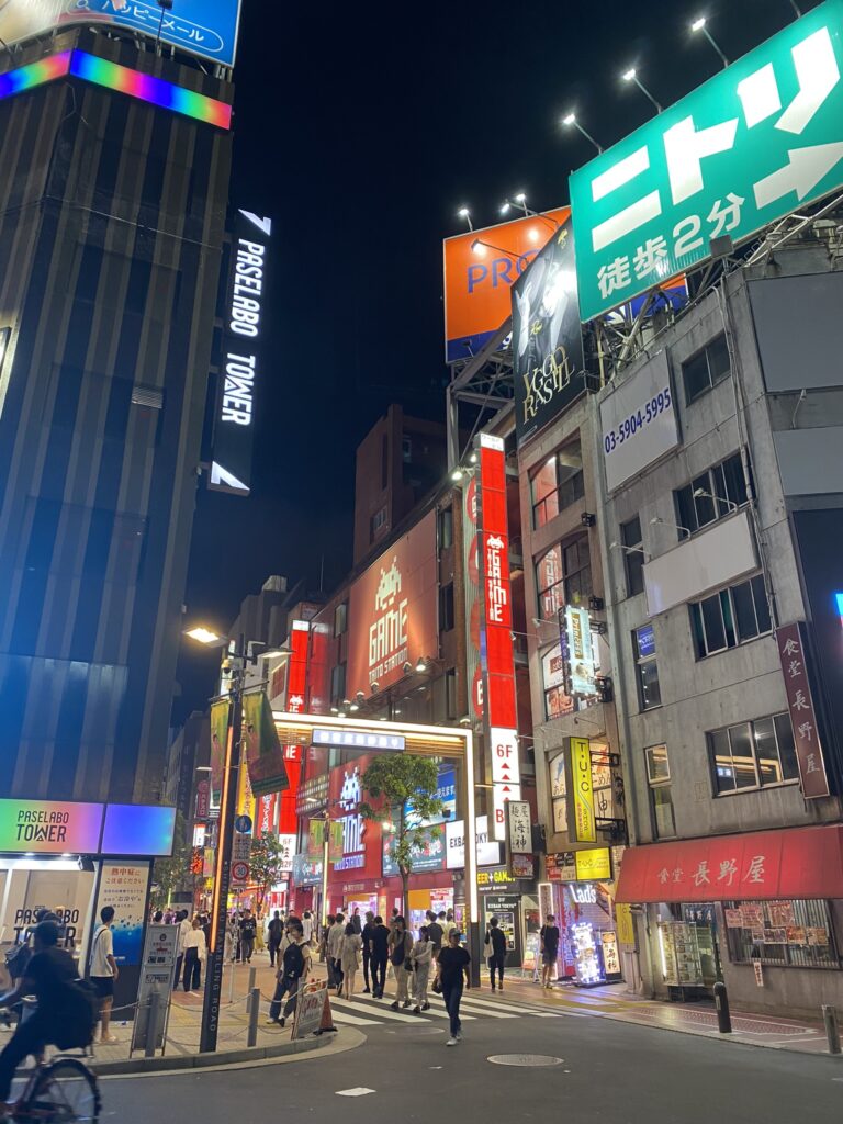
[[[816,7],[801,2],[803,11]],[[278,16],[269,18],[268,13]],[[243,0],[232,201],[274,220],[253,493],[198,497],[185,602],[226,625],[271,573],[318,589],[351,562],[354,448],[391,402],[444,420],[442,239],[523,190],[568,201],[593,149],[795,18],[788,0]],[[180,718],[216,656],[182,659]]]

